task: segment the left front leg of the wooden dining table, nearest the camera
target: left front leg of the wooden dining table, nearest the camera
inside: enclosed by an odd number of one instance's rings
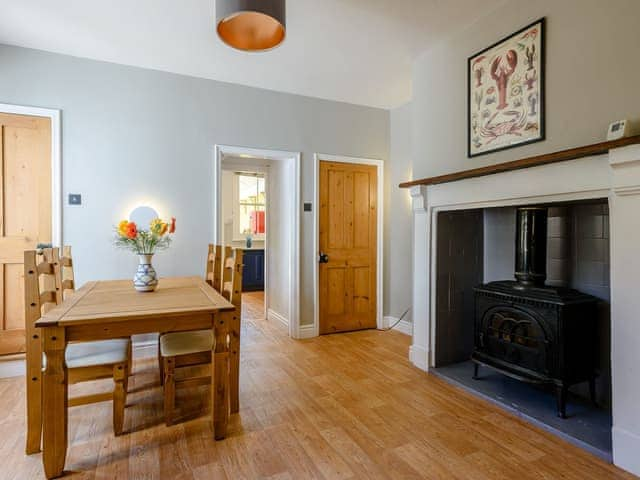
[[[47,478],[64,472],[67,456],[67,365],[65,331],[62,327],[42,329],[47,368],[43,375],[42,463]]]

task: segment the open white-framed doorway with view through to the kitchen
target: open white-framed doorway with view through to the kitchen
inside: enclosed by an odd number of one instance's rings
[[[298,337],[300,154],[218,145],[214,242],[244,250],[243,318]]]

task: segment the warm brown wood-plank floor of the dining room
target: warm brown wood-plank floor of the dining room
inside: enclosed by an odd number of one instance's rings
[[[155,361],[140,360],[115,438],[111,405],[71,409],[71,478],[633,478],[411,367],[409,337],[363,331],[293,341],[245,295],[241,410],[214,442],[206,416],[167,428]],[[182,392],[186,410],[207,387]],[[24,455],[24,381],[0,380],[0,478],[42,478]]]

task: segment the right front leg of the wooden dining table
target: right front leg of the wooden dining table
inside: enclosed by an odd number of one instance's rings
[[[232,318],[233,312],[212,315],[215,343],[211,354],[211,415],[216,440],[226,437],[229,422],[229,324]]]

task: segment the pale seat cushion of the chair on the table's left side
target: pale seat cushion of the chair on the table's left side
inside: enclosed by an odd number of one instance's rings
[[[130,340],[98,340],[95,342],[69,343],[65,351],[67,368],[95,367],[126,362]],[[46,367],[47,359],[42,354],[42,366]]]

